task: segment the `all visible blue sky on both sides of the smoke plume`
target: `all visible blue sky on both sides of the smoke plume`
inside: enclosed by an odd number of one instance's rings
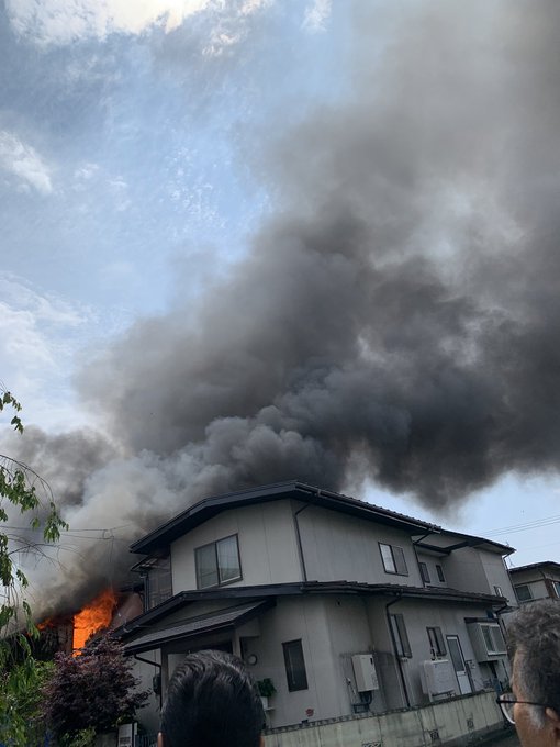
[[[396,4],[405,19],[422,5]],[[396,38],[394,19],[387,3],[368,10],[363,32],[360,3],[329,0],[4,2],[0,372],[27,423],[53,435],[102,431],[99,376],[94,394],[85,393],[90,361],[119,349],[139,320],[171,313],[177,323],[183,314],[187,324],[200,299],[222,296],[262,225],[293,212],[298,200],[302,213],[314,210],[303,187],[305,148],[292,153],[287,143],[302,129],[313,144],[309,122],[317,142],[326,137],[321,111],[344,110],[357,80],[358,89],[383,88],[381,52]],[[403,66],[408,49],[399,44],[406,38],[397,37],[395,54]],[[480,83],[484,75],[474,74]],[[374,105],[368,115],[374,119]],[[351,126],[344,125],[345,137]],[[309,171],[320,171],[323,157],[315,158]],[[505,241],[518,225],[508,223],[500,198],[486,200],[490,190],[473,197],[484,167],[474,174],[446,177],[456,191],[449,197],[446,187],[445,215],[480,211],[489,225],[500,223]],[[301,192],[290,192],[295,183]],[[452,258],[451,274],[471,249],[434,225],[422,231],[444,264]],[[411,493],[366,486],[367,497],[388,508],[509,543],[516,565],[557,559],[560,479],[549,468],[504,469],[446,514]],[[103,513],[75,520],[89,528]],[[533,522],[542,525],[528,527]]]

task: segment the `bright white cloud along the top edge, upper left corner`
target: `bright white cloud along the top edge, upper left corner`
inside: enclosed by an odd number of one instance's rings
[[[14,31],[37,44],[69,44],[111,33],[141,34],[152,25],[166,32],[206,10],[247,16],[270,0],[7,0]]]

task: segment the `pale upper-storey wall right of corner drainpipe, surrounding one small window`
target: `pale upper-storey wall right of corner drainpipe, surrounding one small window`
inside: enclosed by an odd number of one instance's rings
[[[299,516],[309,581],[358,581],[422,587],[410,535],[374,522],[309,505]],[[402,547],[407,576],[387,573],[379,543]]]

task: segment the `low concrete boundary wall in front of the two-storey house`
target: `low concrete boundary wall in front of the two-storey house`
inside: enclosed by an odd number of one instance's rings
[[[459,747],[503,728],[492,691],[381,715],[268,729],[265,742],[266,747]]]

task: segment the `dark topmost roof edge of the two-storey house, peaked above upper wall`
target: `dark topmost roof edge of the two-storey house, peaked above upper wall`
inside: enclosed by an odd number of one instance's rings
[[[428,522],[423,522],[418,519],[390,511],[389,509],[382,509],[366,501],[359,501],[356,498],[349,498],[331,490],[323,490],[292,480],[290,482],[279,482],[250,490],[240,490],[205,498],[135,542],[131,545],[131,550],[149,555],[167,547],[175,539],[178,539],[187,532],[203,524],[222,511],[282,499],[316,503],[324,509],[332,509],[333,511],[339,511],[367,521],[397,527],[408,532],[408,534],[441,532],[441,527],[436,524],[429,524]]]

